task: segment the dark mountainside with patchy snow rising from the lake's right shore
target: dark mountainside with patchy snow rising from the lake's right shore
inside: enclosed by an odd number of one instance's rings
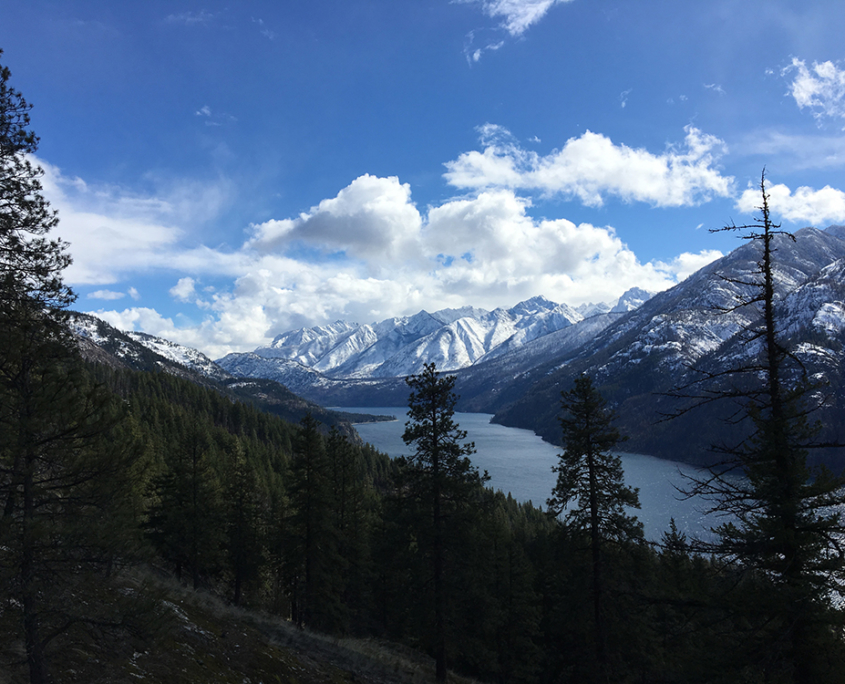
[[[795,237],[776,243],[778,326],[782,341],[807,369],[830,383],[824,409],[829,415],[819,416],[833,430],[845,423],[845,228],[805,228]],[[560,392],[584,372],[615,407],[620,427],[631,437],[627,449],[707,460],[707,448],[724,431],[717,409],[661,422],[678,408],[666,393],[694,379],[694,366],[719,372],[754,353],[743,331],[760,314],[753,306],[736,305],[749,293],[741,282],[754,277],[758,258],[758,245],[739,247],[622,315],[576,351],[550,357],[531,376],[515,377],[500,392],[511,399],[487,410],[497,411],[499,422],[556,442]]]

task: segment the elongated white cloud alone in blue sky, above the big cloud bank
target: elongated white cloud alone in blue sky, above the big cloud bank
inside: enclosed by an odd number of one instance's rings
[[[484,150],[448,162],[444,177],[457,188],[539,190],[575,197],[588,206],[601,206],[608,195],[658,207],[729,196],[733,178],[715,168],[725,144],[693,126],[684,130],[684,145],[670,146],[661,154],[616,145],[587,131],[541,156],[522,148],[507,129],[486,124],[479,128]]]

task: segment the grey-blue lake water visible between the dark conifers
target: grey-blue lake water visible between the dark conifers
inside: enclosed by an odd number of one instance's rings
[[[404,407],[346,408],[345,411],[393,415],[397,420],[356,425],[361,438],[379,451],[390,456],[410,453],[402,441],[407,420]],[[487,413],[456,413],[455,422],[467,432],[467,441],[475,442],[477,453],[471,459],[480,470],[490,475],[488,486],[510,492],[522,502],[531,501],[535,506],[546,507],[557,475],[552,466],[558,462],[559,447],[544,442],[530,430],[509,428],[490,422]],[[639,511],[634,514],[642,521],[648,539],[658,540],[669,521],[689,537],[710,536],[706,531],[719,520],[705,521],[702,501],[683,500],[676,486],[684,485],[683,473],[695,469],[674,461],[653,456],[620,453],[625,470],[625,483],[639,487]]]

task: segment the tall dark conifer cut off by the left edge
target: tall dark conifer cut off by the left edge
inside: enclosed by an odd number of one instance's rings
[[[49,238],[58,219],[26,157],[38,138],[9,77],[0,66],[0,585],[3,618],[16,624],[0,641],[22,641],[29,680],[43,684],[51,650],[125,618],[87,599],[131,557],[138,452],[123,408],[90,382],[64,325],[70,257]]]

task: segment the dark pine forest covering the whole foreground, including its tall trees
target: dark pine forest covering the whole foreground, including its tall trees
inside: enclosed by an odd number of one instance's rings
[[[779,374],[773,318],[751,369],[763,373],[745,409],[755,432],[728,452],[748,484],[719,470],[691,484],[735,515],[716,541],[674,527],[644,540],[610,453],[622,436],[588,377],[562,393],[544,512],[485,488],[453,380],[433,365],[408,379],[413,455],[390,460],[310,415],[291,424],[183,378],[84,361],[64,325],[69,257],[24,156],[37,138],[8,80],[3,69],[0,681],[229,681],[217,654],[247,631],[208,619],[190,623],[200,673],[156,666],[188,619],[174,585],[262,620],[390,642],[434,659],[438,681],[845,681],[843,482],[806,465],[810,390]],[[762,295],[743,305],[771,304],[770,229],[764,210],[751,235]],[[266,657],[245,649],[239,666]],[[252,676],[388,681],[267,662]]]

